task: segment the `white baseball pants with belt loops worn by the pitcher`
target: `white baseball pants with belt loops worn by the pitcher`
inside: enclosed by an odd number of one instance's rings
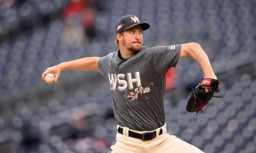
[[[119,125],[117,125],[118,129]],[[116,143],[111,146],[112,153],[202,153],[199,148],[188,144],[174,135],[166,133],[166,124],[156,129],[157,136],[150,141],[129,137],[129,131],[143,134],[152,131],[134,131],[127,127],[123,128],[123,135],[117,132]],[[163,134],[159,135],[160,129]],[[153,131],[154,132],[154,131]]]

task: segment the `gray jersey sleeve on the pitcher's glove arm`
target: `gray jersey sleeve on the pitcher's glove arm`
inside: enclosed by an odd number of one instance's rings
[[[180,58],[181,45],[154,47],[153,61],[156,71],[165,75],[169,68],[175,67]]]

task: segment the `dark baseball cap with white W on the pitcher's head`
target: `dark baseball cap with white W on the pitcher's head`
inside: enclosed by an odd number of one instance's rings
[[[140,22],[139,18],[135,15],[126,15],[121,17],[116,23],[116,33],[121,33],[124,30],[134,27],[135,25],[141,25],[142,30],[150,28],[150,24]]]

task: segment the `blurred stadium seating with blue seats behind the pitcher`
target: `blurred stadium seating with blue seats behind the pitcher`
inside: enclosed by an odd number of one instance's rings
[[[151,24],[146,46],[200,43],[221,81],[223,98],[187,113],[203,73],[191,58],[179,61],[167,76],[168,132],[207,153],[256,152],[254,0],[0,1],[0,152],[110,151],[116,122],[101,75],[66,71],[46,84],[41,73],[115,51],[115,24],[127,14]]]

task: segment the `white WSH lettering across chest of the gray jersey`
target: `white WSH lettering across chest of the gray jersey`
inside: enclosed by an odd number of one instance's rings
[[[108,75],[109,75],[111,90],[116,90],[116,88],[117,88],[118,90],[123,91],[127,87],[129,87],[129,89],[131,90],[131,89],[141,86],[140,72],[135,72],[134,78],[132,77],[132,73],[126,73],[126,74],[108,73]],[[127,78],[127,81],[125,80],[125,78]],[[117,86],[117,83],[118,83],[118,86]]]

